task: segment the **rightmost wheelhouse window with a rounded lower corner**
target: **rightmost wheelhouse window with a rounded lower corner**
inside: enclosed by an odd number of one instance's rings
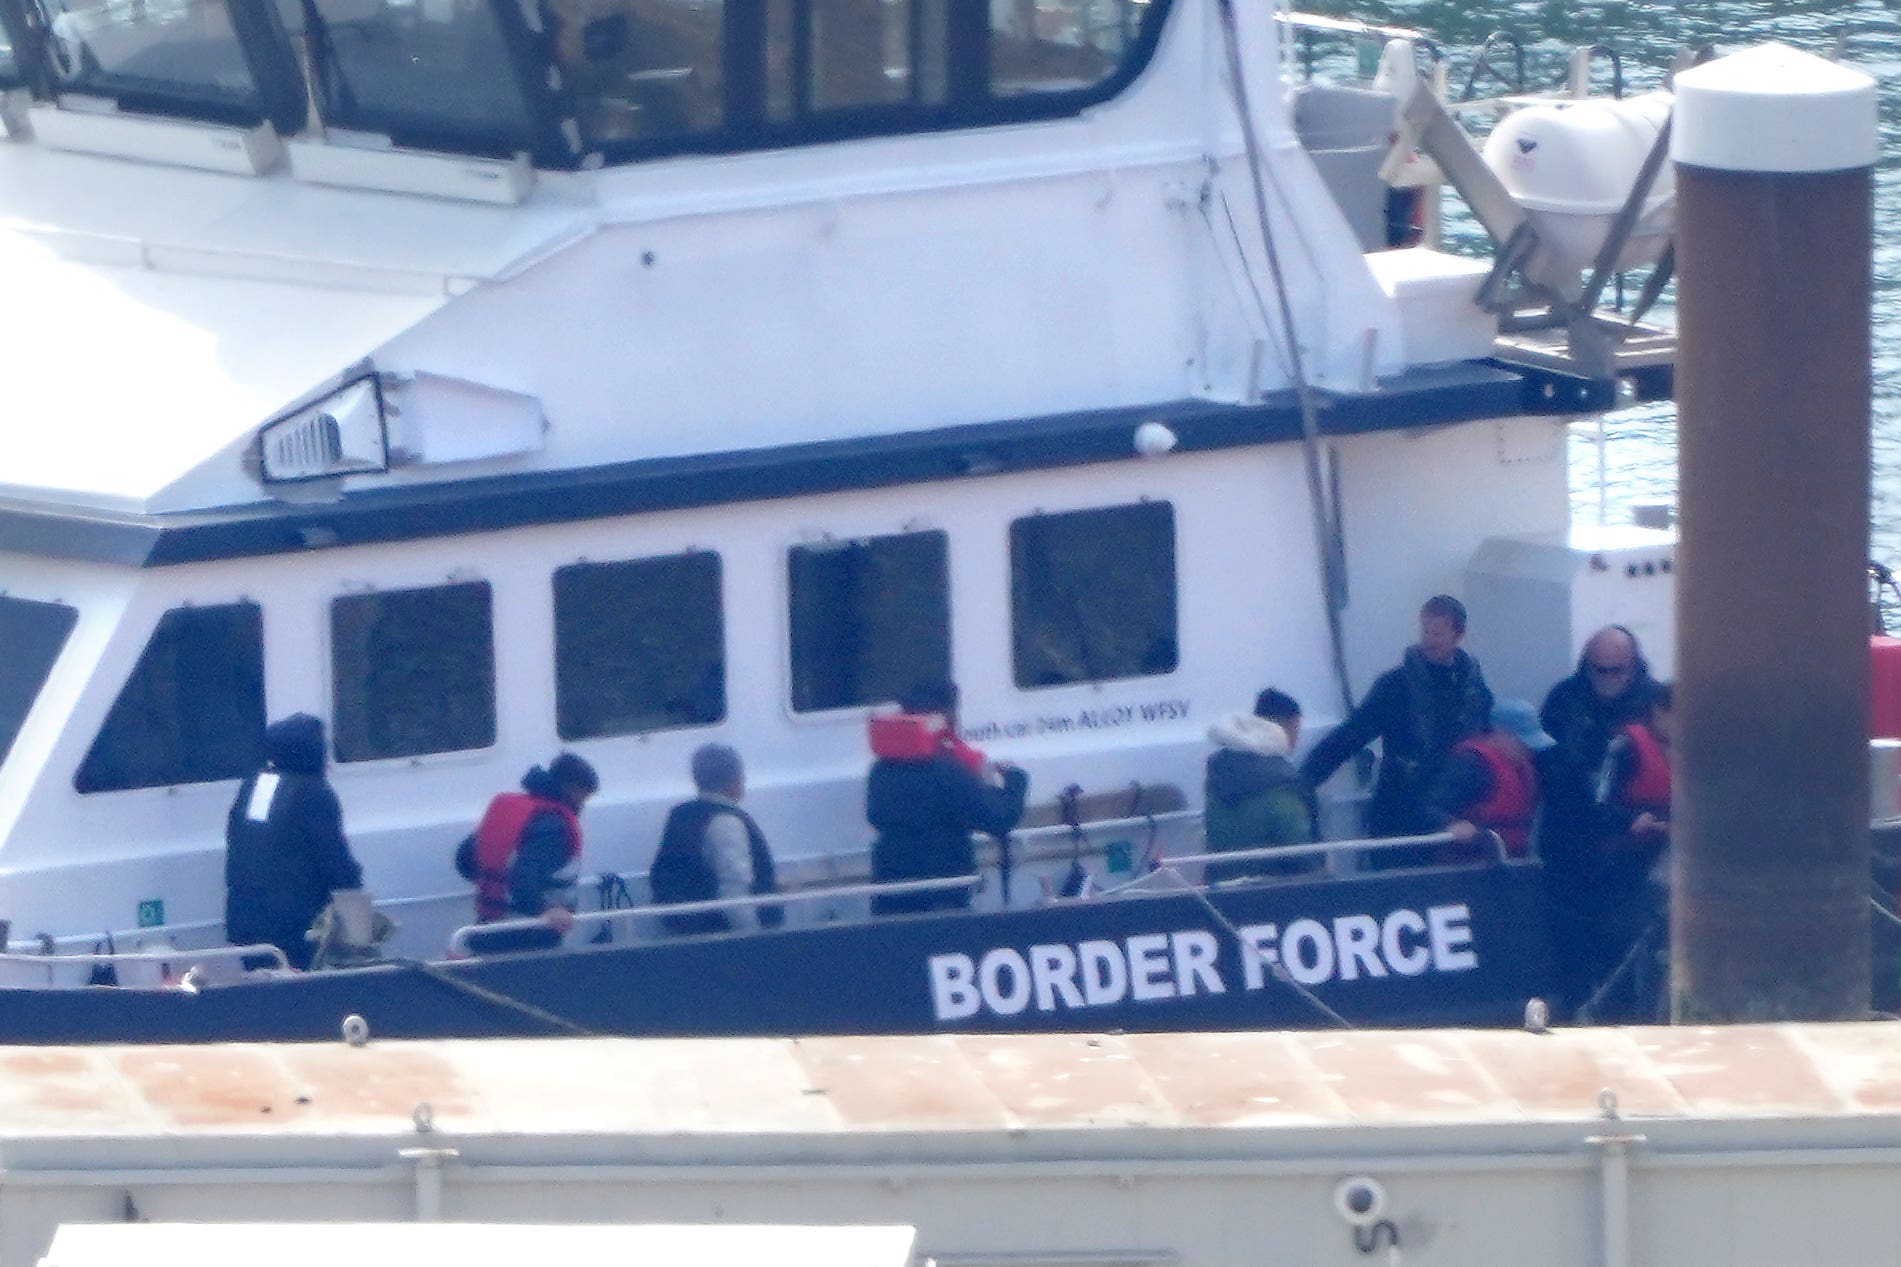
[[[1108,80],[1150,0],[990,0],[990,95],[1063,93]]]

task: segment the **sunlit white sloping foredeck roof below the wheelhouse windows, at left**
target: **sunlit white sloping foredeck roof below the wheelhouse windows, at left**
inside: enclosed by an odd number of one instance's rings
[[[589,219],[0,145],[0,493],[192,504],[207,455]]]

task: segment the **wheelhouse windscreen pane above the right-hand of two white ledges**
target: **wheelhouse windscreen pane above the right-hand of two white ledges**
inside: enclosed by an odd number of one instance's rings
[[[308,11],[333,127],[420,148],[565,158],[530,108],[513,0],[308,0]]]

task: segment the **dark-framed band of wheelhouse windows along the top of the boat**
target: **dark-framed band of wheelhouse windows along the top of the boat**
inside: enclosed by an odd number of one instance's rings
[[[4,0],[0,76],[70,108],[547,169],[1074,114],[1169,0]]]

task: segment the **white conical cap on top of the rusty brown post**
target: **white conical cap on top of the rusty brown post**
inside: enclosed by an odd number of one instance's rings
[[[1880,152],[1874,80],[1762,44],[1677,76],[1671,158],[1717,171],[1848,171]]]

